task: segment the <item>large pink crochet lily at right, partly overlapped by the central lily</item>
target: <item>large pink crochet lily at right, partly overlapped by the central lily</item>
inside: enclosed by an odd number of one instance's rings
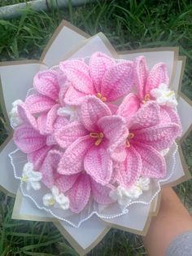
[[[155,179],[165,176],[166,163],[160,151],[170,148],[180,130],[176,123],[161,122],[159,105],[150,101],[139,108],[136,97],[133,94],[125,97],[117,112],[129,128],[127,157],[116,165],[117,182],[125,188],[131,187],[139,176]]]

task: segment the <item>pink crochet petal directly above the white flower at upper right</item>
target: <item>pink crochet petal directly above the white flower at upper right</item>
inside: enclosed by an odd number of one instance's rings
[[[168,70],[166,64],[160,62],[151,69],[145,87],[145,95],[152,89],[159,87],[160,83],[168,84]]]

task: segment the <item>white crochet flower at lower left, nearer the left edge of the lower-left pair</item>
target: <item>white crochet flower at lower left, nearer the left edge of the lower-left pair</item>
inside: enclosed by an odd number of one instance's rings
[[[21,180],[27,184],[26,188],[29,190],[33,188],[34,190],[39,190],[41,184],[39,181],[42,179],[42,174],[38,171],[33,170],[33,163],[27,162],[24,165],[23,175]]]

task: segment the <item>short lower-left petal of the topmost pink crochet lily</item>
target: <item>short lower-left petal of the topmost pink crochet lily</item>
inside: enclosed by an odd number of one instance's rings
[[[68,105],[79,105],[82,103],[82,101],[85,98],[85,93],[76,90],[75,87],[73,86],[69,86],[65,98],[64,98],[64,102]]]

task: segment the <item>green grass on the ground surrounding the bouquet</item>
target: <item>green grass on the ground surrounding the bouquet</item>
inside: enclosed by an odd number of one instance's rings
[[[6,3],[22,1],[2,0]],[[38,59],[61,20],[90,35],[102,31],[117,51],[153,46],[180,46],[187,56],[182,91],[192,99],[192,7],[190,1],[100,1],[83,7],[36,13],[24,11],[17,20],[0,20],[0,60]],[[0,112],[0,143],[6,138]],[[182,144],[192,170],[192,135]],[[191,211],[192,182],[177,186]],[[76,255],[52,223],[11,220],[14,200],[0,194],[0,255]],[[144,255],[141,238],[111,230],[89,255]]]

